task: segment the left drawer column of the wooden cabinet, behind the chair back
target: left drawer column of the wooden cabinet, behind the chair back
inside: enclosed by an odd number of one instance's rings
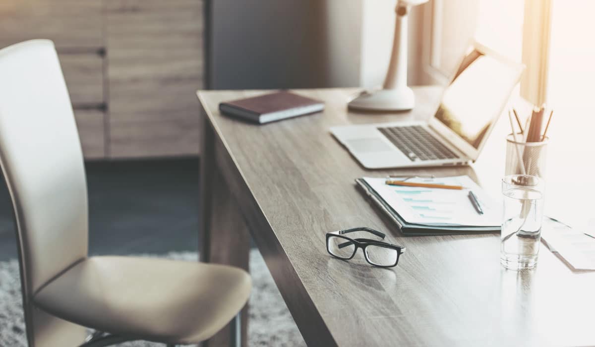
[[[92,0],[0,0],[0,47],[54,41],[85,158],[105,158],[103,4]]]

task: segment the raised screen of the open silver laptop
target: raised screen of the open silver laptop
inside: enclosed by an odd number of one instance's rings
[[[475,161],[524,68],[473,42],[444,89],[430,126]]]

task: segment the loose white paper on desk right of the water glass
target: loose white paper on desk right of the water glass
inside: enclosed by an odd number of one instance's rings
[[[541,238],[577,270],[595,270],[595,239],[580,229],[544,217]]]

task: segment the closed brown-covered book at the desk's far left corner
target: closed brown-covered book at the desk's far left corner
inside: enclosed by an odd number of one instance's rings
[[[259,124],[322,110],[324,102],[291,92],[275,92],[219,104],[222,113]]]

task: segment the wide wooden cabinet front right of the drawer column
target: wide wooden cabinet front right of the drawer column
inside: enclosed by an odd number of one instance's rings
[[[105,0],[109,155],[198,154],[201,0]]]

